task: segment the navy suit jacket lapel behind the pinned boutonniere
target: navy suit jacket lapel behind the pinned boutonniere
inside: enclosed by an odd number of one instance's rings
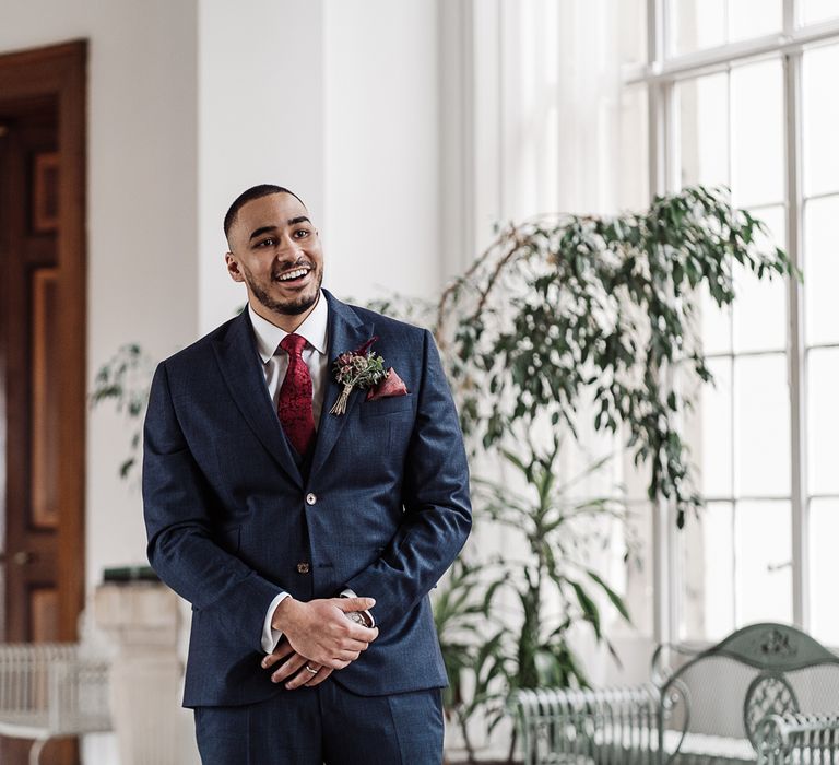
[[[320,413],[318,426],[318,438],[315,445],[315,455],[311,459],[310,475],[312,476],[323,467],[338,437],[341,435],[341,431],[350,420],[353,409],[358,405],[361,398],[365,396],[365,391],[357,388],[354,389],[346,402],[346,412],[344,414],[330,414],[329,410],[332,409],[332,405],[338,400],[342,388],[335,380],[332,365],[339,354],[345,351],[354,351],[373,337],[373,327],[364,323],[350,306],[335,299],[326,290],[323,294],[327,296],[329,305],[329,348],[327,351],[329,366],[327,369],[326,391],[323,393],[323,409]]]

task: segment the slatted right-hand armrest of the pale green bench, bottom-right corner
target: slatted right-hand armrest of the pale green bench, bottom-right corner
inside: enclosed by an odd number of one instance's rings
[[[785,763],[794,752],[803,754],[813,750],[839,753],[839,716],[787,713],[770,715],[760,722],[757,731],[758,763]]]

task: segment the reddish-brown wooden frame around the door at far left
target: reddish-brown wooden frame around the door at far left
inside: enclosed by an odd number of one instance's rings
[[[87,242],[86,242],[86,83],[87,42],[73,40],[45,48],[0,54],[2,102],[50,98],[58,109],[59,172],[58,315],[72,328],[59,345],[57,396],[63,427],[59,432],[57,561],[58,635],[78,639],[85,589],[85,470],[87,368]],[[5,433],[0,434],[5,440]],[[5,470],[5,459],[0,460]],[[2,475],[0,486],[4,485]]]

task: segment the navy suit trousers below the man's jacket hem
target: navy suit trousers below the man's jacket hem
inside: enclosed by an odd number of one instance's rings
[[[440,688],[358,696],[328,679],[236,707],[197,707],[203,765],[440,765]]]

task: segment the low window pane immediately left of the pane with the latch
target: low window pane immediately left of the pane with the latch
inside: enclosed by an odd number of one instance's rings
[[[710,502],[678,536],[683,639],[718,640],[734,629],[734,525],[729,502]]]

